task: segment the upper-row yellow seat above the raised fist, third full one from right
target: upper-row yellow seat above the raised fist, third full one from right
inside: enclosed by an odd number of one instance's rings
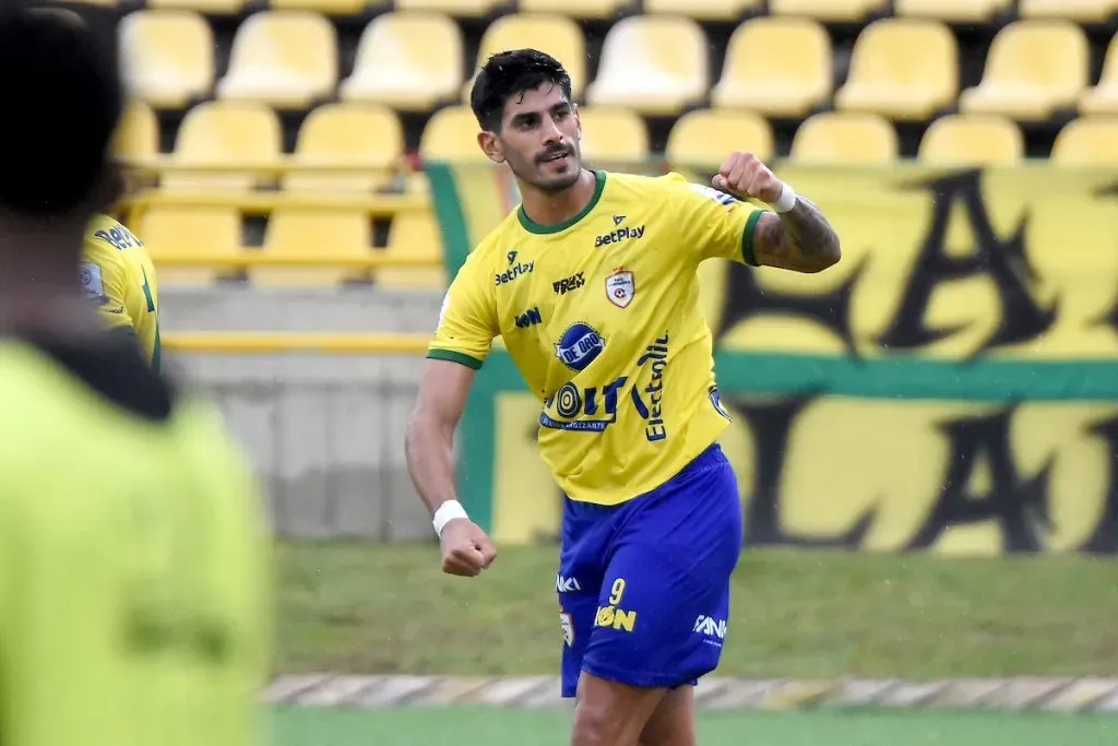
[[[730,37],[711,103],[769,116],[805,116],[827,100],[832,81],[831,39],[819,23],[756,18]]]

